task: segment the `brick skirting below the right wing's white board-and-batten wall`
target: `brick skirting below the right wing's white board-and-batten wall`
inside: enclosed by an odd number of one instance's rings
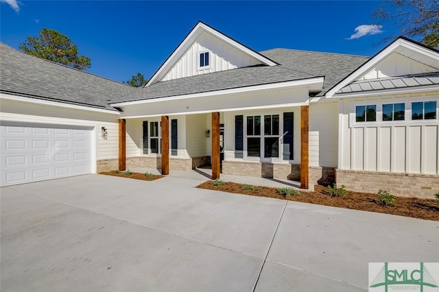
[[[399,197],[434,199],[439,191],[439,175],[336,169],[335,178],[337,185],[364,193],[378,193],[382,189]]]

